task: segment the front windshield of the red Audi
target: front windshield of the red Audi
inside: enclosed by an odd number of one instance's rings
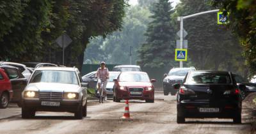
[[[147,73],[122,73],[120,82],[150,82]]]

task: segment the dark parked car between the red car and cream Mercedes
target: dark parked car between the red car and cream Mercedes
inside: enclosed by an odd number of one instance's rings
[[[11,102],[17,103],[21,107],[21,93],[26,87],[28,80],[20,73],[18,68],[8,65],[0,66],[0,68],[6,72],[12,84],[13,98]]]

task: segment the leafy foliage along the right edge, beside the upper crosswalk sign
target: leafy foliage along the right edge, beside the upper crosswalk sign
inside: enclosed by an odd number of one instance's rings
[[[256,3],[255,0],[211,0],[213,6],[229,12],[228,27],[239,36],[251,75],[256,73]]]

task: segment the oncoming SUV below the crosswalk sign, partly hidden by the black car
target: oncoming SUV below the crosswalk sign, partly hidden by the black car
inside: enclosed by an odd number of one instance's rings
[[[189,71],[196,70],[194,67],[190,68],[172,68],[168,74],[164,74],[163,89],[164,95],[175,95],[177,93],[176,89],[173,89],[172,85],[183,82],[186,74]]]

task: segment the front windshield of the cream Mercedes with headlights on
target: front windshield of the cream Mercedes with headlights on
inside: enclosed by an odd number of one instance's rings
[[[29,83],[36,82],[78,85],[75,71],[36,70]]]

